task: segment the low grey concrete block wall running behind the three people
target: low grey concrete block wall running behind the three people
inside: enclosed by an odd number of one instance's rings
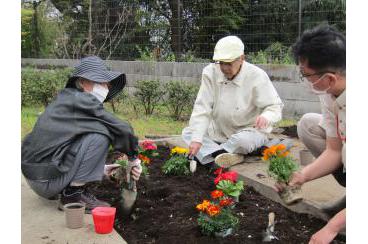
[[[22,66],[34,65],[40,68],[49,66],[74,67],[78,60],[71,59],[22,59]],[[138,80],[160,80],[167,82],[179,80],[200,84],[202,69],[207,63],[107,61],[114,71],[127,76],[128,91],[134,90]],[[277,92],[283,100],[284,118],[298,118],[304,113],[320,112],[319,100],[305,86],[299,83],[298,69],[295,65],[257,65],[269,75]]]

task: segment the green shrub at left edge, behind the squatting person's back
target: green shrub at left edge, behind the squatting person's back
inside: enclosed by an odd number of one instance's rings
[[[24,68],[21,73],[22,105],[47,106],[65,87],[71,69],[38,70]]]

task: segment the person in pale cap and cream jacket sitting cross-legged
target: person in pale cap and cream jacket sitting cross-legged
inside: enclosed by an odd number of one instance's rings
[[[230,167],[267,143],[272,125],[281,120],[283,103],[266,72],[245,61],[238,37],[220,39],[213,60],[203,69],[182,137],[201,164]]]

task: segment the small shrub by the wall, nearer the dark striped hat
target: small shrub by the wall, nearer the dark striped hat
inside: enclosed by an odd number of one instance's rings
[[[163,87],[158,80],[137,81],[134,96],[144,107],[146,115],[151,115],[165,94]]]

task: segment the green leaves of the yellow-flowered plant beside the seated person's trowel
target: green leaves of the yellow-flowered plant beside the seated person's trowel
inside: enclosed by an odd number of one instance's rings
[[[184,154],[174,154],[162,166],[165,175],[189,175],[189,161]]]

